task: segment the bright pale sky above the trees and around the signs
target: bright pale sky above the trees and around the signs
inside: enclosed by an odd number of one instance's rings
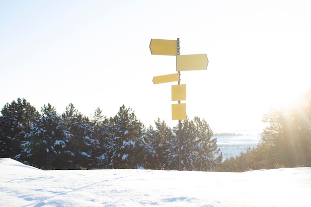
[[[207,70],[181,72],[187,115],[214,132],[262,129],[263,113],[310,83],[310,0],[0,0],[0,107],[25,98],[62,114],[73,103],[169,126],[174,56],[154,39],[180,38],[181,55],[207,54]]]

